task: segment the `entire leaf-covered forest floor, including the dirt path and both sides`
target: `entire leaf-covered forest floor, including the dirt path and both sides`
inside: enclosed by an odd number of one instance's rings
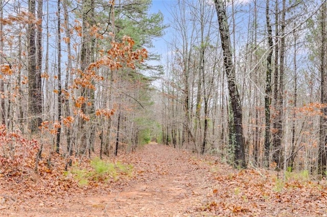
[[[326,182],[306,173],[277,179],[158,144],[115,160],[132,165],[132,176],[84,186],[64,175],[2,177],[0,216],[327,216]]]

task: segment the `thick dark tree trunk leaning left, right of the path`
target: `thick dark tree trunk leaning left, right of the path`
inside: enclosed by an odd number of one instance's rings
[[[243,137],[243,125],[242,125],[242,106],[240,95],[238,92],[236,77],[235,77],[235,66],[232,61],[230,34],[227,23],[227,16],[223,0],[215,0],[219,32],[221,37],[221,45],[223,48],[224,66],[227,75],[227,84],[229,91],[229,98],[231,101],[232,113],[233,113],[233,124],[235,127],[235,166],[246,167],[245,162],[245,150],[244,150],[244,137]]]

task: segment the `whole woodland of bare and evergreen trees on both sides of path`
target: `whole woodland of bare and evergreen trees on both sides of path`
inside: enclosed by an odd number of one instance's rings
[[[150,0],[0,5],[4,162],[156,141],[326,176],[326,1],[175,1],[168,24]]]

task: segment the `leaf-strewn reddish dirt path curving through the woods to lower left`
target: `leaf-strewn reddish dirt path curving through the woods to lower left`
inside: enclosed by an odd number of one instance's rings
[[[196,216],[196,209],[212,195],[208,165],[188,152],[149,144],[124,157],[134,166],[134,178],[121,185],[118,181],[108,191],[58,198],[30,196],[30,205],[11,201],[9,209],[0,207],[0,215]]]

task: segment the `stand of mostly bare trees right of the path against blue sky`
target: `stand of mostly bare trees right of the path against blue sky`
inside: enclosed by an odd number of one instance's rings
[[[175,38],[162,77],[163,140],[235,166],[317,173],[325,158],[322,3],[214,3],[171,4]]]

